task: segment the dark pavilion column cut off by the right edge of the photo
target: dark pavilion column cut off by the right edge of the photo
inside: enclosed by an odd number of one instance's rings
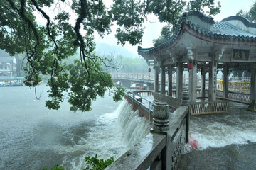
[[[252,63],[251,68],[250,105],[247,109],[256,111],[256,63]]]

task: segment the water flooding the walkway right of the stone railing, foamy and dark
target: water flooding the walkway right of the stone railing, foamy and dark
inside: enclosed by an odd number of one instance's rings
[[[181,157],[180,169],[256,169],[256,113],[245,104],[229,105],[229,113],[191,116],[196,149]]]

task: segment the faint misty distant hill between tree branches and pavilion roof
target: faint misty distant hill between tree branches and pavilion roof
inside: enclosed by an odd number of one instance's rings
[[[139,55],[129,52],[129,50],[125,49],[122,46],[108,45],[105,43],[96,43],[95,51],[100,55],[110,55],[112,52],[114,53],[115,56],[122,55],[123,57],[131,57],[131,58],[139,57]]]

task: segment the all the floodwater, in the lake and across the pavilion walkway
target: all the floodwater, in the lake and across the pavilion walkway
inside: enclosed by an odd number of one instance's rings
[[[85,157],[117,159],[149,132],[151,125],[126,101],[97,98],[92,111],[45,107],[28,87],[0,88],[0,169],[43,169],[55,164],[84,169]],[[230,102],[230,113],[191,116],[190,142],[179,169],[256,169],[256,113]],[[142,131],[144,130],[144,131]]]

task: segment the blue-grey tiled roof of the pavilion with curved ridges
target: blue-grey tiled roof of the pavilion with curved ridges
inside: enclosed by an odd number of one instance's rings
[[[207,16],[203,16],[203,17],[205,17],[206,19],[210,18],[210,17],[207,17]],[[233,16],[233,18],[232,17],[229,17],[229,18],[230,19],[238,18],[241,21],[242,17]],[[225,18],[225,19],[227,19],[227,18]],[[221,40],[232,40],[232,41],[256,42],[256,35],[255,34],[249,33],[245,30],[241,30],[240,28],[232,25],[231,23],[225,22],[225,21],[227,21],[225,19],[223,21],[220,21],[220,22],[214,22],[213,21],[213,27],[210,30],[208,30],[206,28],[201,28],[200,26],[198,26],[194,23],[191,23],[191,21],[186,21],[186,20],[183,19],[181,21],[181,25],[180,25],[180,28],[179,28],[178,32],[175,33],[169,40],[167,40],[166,42],[164,42],[163,44],[161,44],[157,47],[142,48],[142,47],[139,46],[138,47],[138,53],[139,53],[139,55],[149,55],[152,52],[161,50],[164,47],[168,47],[169,45],[171,45],[172,42],[174,42],[174,40],[176,40],[176,38],[181,33],[181,30],[183,29],[184,26],[188,26],[189,28],[191,28],[196,33],[201,33],[201,34],[203,34],[204,36],[206,36],[208,38],[213,38],[213,39],[216,39],[216,40],[221,39]],[[250,24],[250,26],[256,28],[255,23],[250,23],[245,18],[243,18],[243,19],[244,20],[242,22],[244,22],[245,25]]]

